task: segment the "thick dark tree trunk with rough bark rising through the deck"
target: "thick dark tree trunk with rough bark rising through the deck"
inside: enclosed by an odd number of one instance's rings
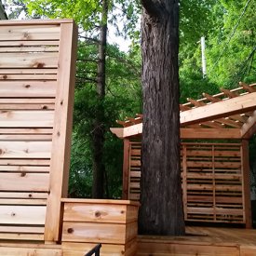
[[[141,234],[183,235],[178,0],[141,0]]]

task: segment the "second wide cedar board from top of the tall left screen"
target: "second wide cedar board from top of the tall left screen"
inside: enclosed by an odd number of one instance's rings
[[[56,52],[1,53],[0,68],[57,68],[57,66],[58,54]]]

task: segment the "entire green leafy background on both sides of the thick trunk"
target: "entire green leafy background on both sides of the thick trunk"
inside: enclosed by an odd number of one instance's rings
[[[107,191],[109,197],[120,196],[123,145],[109,128],[116,126],[115,119],[123,120],[127,115],[141,113],[140,0],[109,1],[109,19],[103,21],[115,27],[115,34],[131,38],[132,44],[128,53],[121,52],[117,46],[107,47],[104,101],[97,99],[95,88],[101,2],[8,0],[10,2],[16,5],[12,8],[12,17],[28,11],[33,17],[73,18],[79,24],[70,194],[79,197],[91,195],[93,117],[97,109],[103,108],[103,128],[107,131],[104,144]],[[181,0],[180,7],[181,102],[186,98],[198,99],[202,92],[215,94],[220,87],[237,87],[240,80],[256,81],[255,1]],[[203,35],[207,39],[206,78],[201,72],[198,43]],[[254,152],[254,144],[250,144],[251,152]]]

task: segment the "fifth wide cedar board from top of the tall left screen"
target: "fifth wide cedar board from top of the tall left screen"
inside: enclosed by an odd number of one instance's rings
[[[0,141],[0,158],[50,158],[51,141]]]

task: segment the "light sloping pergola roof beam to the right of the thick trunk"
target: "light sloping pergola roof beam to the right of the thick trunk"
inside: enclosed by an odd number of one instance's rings
[[[256,109],[256,93],[249,93],[213,104],[182,112],[181,126],[214,120],[230,115],[246,113]]]

